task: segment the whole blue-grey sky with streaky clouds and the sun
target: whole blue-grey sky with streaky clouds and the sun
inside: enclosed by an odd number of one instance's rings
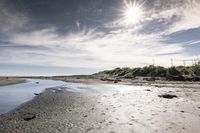
[[[190,65],[200,0],[0,0],[0,75]]]

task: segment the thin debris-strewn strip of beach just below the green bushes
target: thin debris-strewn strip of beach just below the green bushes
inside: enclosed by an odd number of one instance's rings
[[[109,76],[98,75],[76,75],[76,76],[56,76],[49,77],[53,80],[62,80],[65,82],[74,83],[102,83],[102,84],[123,84],[123,85],[137,85],[137,86],[153,86],[153,87],[176,87],[176,88],[199,88],[199,81],[168,81],[168,80],[146,80],[144,77],[137,77],[133,79],[116,78]]]

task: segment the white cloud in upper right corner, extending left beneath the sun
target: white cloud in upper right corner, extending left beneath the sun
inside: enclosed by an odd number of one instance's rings
[[[149,8],[143,7],[144,13],[138,25],[132,27],[124,26],[122,19],[117,19],[105,24],[107,28],[128,28],[137,32],[143,30],[145,25],[151,22],[160,22],[153,27],[159,31],[159,35],[169,35],[175,32],[199,28],[200,27],[200,1],[199,0],[157,0]],[[145,5],[144,5],[145,6]],[[146,5],[148,6],[148,5]],[[121,16],[123,18],[123,16]]]

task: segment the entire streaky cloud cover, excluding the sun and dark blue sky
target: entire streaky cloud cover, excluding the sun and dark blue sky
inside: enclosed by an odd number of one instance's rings
[[[100,24],[93,21],[96,16],[77,19],[73,11],[68,12],[67,16],[71,14],[75,18],[73,25],[76,30],[70,30],[73,29],[69,28],[72,27],[70,24],[60,29],[56,25],[58,22],[34,28],[38,24],[34,23],[31,15],[1,5],[0,18],[5,19],[0,19],[0,32],[8,37],[1,38],[0,62],[108,69],[150,65],[152,58],[156,65],[169,66],[171,58],[183,60],[198,56],[192,55],[186,45],[198,45],[199,37],[195,40],[188,38],[190,42],[184,43],[167,41],[174,33],[200,30],[198,0],[147,1],[143,5],[143,19],[132,27],[123,27],[120,18],[113,18],[118,10],[101,7],[104,2],[98,0],[92,4],[92,9],[102,17],[98,19],[102,19]],[[112,20],[106,19],[109,17],[106,14],[102,15],[105,11],[109,15],[115,11]]]

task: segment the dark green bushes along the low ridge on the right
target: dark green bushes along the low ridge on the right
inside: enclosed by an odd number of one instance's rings
[[[101,72],[110,76],[134,78],[136,76],[142,77],[190,77],[191,80],[194,77],[200,77],[200,63],[192,66],[174,66],[165,68],[161,66],[145,66],[137,68],[115,68],[113,70],[107,70]],[[182,80],[183,80],[182,78]],[[185,78],[184,78],[185,79]]]

